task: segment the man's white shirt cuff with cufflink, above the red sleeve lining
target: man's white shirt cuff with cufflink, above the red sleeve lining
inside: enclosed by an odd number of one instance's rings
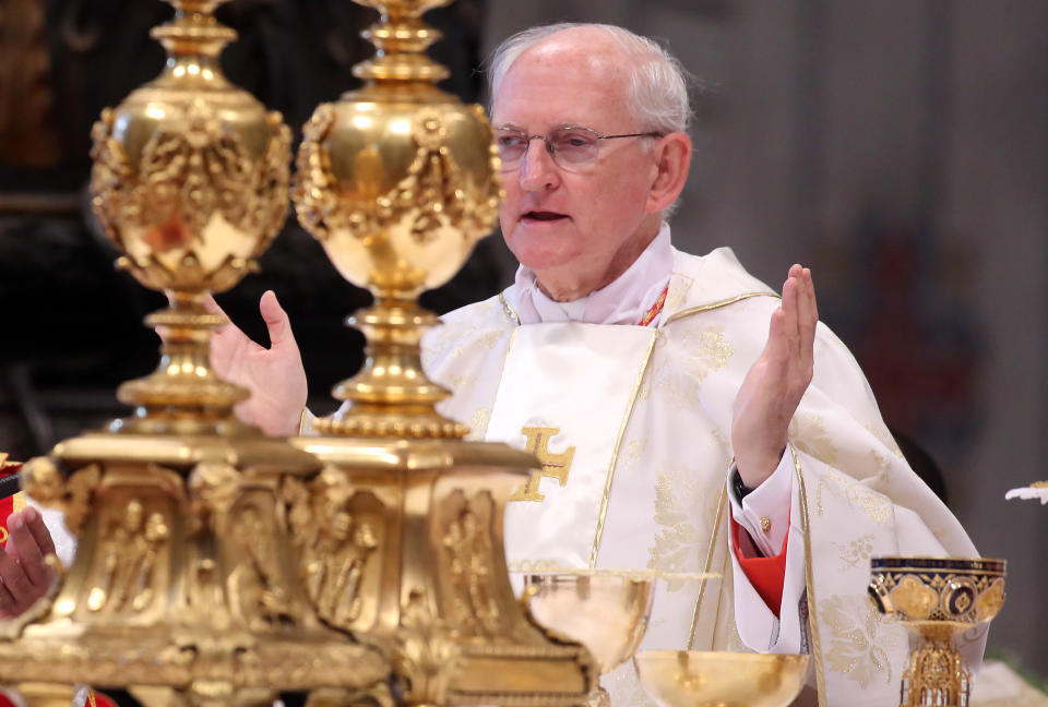
[[[765,558],[782,552],[783,541],[789,534],[789,505],[794,493],[794,458],[787,447],[772,476],[739,499],[733,488],[731,477],[736,465],[728,469],[728,499],[731,517],[749,534],[753,544]]]

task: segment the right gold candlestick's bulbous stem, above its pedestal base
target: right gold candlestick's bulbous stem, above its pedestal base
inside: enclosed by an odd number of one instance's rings
[[[440,35],[420,20],[449,0],[366,0],[364,33],[378,55],[354,68],[366,85],[321,105],[305,129],[293,197],[299,221],[343,277],[376,304],[350,323],[367,361],[341,383],[348,411],[321,433],[456,439],[468,428],[438,415],[450,395],[421,369],[418,344],[436,317],[416,298],[454,275],[498,218],[501,188],[491,127],[479,106],[438,89],[446,70],[424,53]]]

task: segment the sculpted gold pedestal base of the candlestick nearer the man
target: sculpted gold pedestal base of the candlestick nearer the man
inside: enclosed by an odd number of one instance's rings
[[[531,620],[502,553],[533,456],[458,440],[291,443],[325,465],[289,489],[302,584],[324,621],[393,656],[405,703],[585,702],[590,654]]]

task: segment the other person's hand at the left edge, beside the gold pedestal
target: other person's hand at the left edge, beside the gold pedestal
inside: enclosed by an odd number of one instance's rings
[[[44,558],[55,553],[55,543],[39,511],[12,513],[8,532],[7,548],[0,548],[0,619],[22,615],[47,594],[53,573]]]

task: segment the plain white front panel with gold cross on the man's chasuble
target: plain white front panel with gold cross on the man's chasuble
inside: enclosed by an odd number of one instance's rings
[[[513,334],[485,439],[543,463],[505,510],[511,568],[596,562],[607,493],[656,332],[564,322]]]

